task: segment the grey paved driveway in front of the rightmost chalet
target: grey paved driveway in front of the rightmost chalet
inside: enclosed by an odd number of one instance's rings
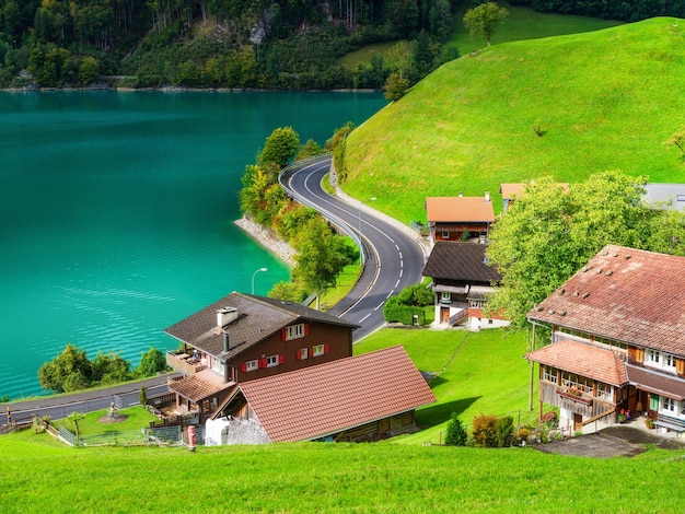
[[[685,440],[676,439],[672,434],[660,434],[623,425],[609,427],[595,434],[533,447],[548,454],[607,458],[635,457],[647,452],[648,444],[662,449],[685,449]]]

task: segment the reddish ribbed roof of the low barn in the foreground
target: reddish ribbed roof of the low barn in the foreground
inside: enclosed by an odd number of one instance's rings
[[[436,401],[402,347],[239,387],[271,442],[318,439]]]

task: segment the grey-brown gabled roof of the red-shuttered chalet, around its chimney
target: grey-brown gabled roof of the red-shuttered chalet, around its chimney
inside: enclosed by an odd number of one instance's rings
[[[237,311],[237,319],[224,327],[223,331],[229,335],[231,349],[222,355],[223,334],[217,327],[217,311],[225,306]],[[298,303],[231,293],[164,331],[210,355],[232,359],[281,328],[303,320],[327,323],[350,329],[358,328],[358,325]]]

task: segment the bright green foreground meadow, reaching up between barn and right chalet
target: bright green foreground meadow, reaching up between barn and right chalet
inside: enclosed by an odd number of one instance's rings
[[[32,430],[0,437],[2,512],[677,512],[685,451],[591,459],[438,442],[445,417],[527,408],[523,332],[383,329],[356,353],[403,344],[437,373],[428,429],[381,444],[71,448]],[[102,412],[101,412],[102,413]],[[93,414],[94,416],[94,414]],[[515,414],[514,414],[515,417]],[[533,414],[534,417],[534,414]],[[144,420],[141,420],[141,422]],[[84,428],[88,423],[84,423]],[[649,491],[649,500],[638,491]],[[648,504],[646,504],[648,502]]]

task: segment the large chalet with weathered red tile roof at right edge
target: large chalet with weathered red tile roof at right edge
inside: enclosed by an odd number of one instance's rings
[[[685,431],[684,270],[684,257],[608,245],[533,308],[552,329],[525,355],[539,363],[541,413],[557,406],[562,427],[592,431],[628,410]]]

